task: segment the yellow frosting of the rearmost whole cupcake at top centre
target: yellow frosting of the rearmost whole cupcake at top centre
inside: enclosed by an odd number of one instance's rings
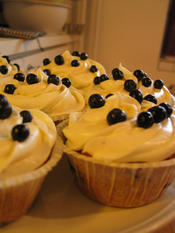
[[[43,65],[42,69],[50,70],[52,74],[58,75],[61,79],[65,77],[69,78],[72,85],[77,89],[90,86],[93,83],[94,77],[106,73],[104,67],[92,59],[81,60],[80,57],[72,56],[69,51],[65,51],[62,57],[64,58],[64,64],[57,65],[55,61],[51,61],[50,64]],[[79,62],[77,67],[71,66],[73,60]],[[92,65],[97,67],[97,72],[90,72]]]

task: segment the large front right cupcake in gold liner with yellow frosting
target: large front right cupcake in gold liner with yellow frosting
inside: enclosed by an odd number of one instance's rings
[[[59,125],[80,190],[116,207],[153,202],[175,177],[174,97],[146,73],[140,80],[130,77],[136,84],[133,90],[129,78],[113,95],[94,93],[82,112]],[[144,86],[144,78],[151,85]],[[140,100],[138,92],[145,88],[144,95],[151,97],[141,95]]]

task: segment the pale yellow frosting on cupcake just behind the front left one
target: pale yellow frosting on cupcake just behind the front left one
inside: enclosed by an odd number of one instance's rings
[[[39,109],[47,113],[54,120],[69,114],[73,111],[80,111],[84,107],[84,98],[74,87],[67,88],[62,85],[47,83],[47,75],[41,70],[35,73],[39,82],[29,85],[25,82],[19,82],[13,77],[6,83],[1,83],[0,94],[7,97],[8,101],[22,109]],[[4,92],[6,84],[14,84],[16,90],[14,94]]]

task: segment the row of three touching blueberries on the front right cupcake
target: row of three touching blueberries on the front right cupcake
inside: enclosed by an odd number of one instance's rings
[[[168,103],[161,103],[148,109],[147,112],[141,112],[137,117],[137,125],[141,128],[150,128],[154,123],[159,123],[170,117],[173,108]]]

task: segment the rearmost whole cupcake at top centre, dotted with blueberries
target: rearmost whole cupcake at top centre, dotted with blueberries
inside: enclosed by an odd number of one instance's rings
[[[88,58],[87,53],[78,51],[74,51],[72,54],[65,51],[63,54],[55,56],[53,61],[45,58],[42,69],[46,73],[58,75],[63,83],[68,78],[72,86],[81,90],[83,94],[86,93],[96,76],[106,74],[100,63]]]

